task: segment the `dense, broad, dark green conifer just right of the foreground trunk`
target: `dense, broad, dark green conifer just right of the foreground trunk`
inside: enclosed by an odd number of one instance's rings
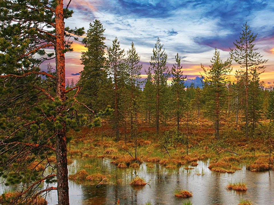
[[[107,86],[104,84],[107,82],[104,31],[100,21],[95,19],[93,24],[89,24],[87,36],[82,41],[88,50],[82,52],[81,64],[84,68],[80,72],[78,84],[82,90],[78,98],[93,110],[101,109],[101,104],[97,102],[98,92],[101,87]]]

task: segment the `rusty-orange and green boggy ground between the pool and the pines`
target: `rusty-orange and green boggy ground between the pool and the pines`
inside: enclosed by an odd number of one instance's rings
[[[273,139],[267,138],[266,130],[261,130],[266,129],[267,124],[262,123],[256,134],[249,138],[245,137],[244,125],[236,129],[231,124],[222,124],[220,139],[217,140],[213,125],[206,119],[191,125],[188,139],[184,125],[180,130],[182,136],[177,137],[176,125],[163,126],[157,134],[154,127],[143,123],[142,127],[138,127],[136,159],[135,139],[131,138],[129,128],[126,132],[120,128],[118,142],[115,141],[114,129],[106,125],[103,128],[82,128],[80,132],[70,131],[69,161],[77,158],[83,163],[69,179],[77,183],[117,183],[112,180],[111,173],[104,173],[95,160],[104,157],[120,169],[138,168],[143,161],[147,167],[158,163],[167,169],[191,169],[190,166],[197,166],[197,161],[201,160],[209,161],[208,168],[219,173],[234,173],[244,165],[251,171],[272,170],[274,158],[269,143]],[[85,163],[87,159],[88,163]]]

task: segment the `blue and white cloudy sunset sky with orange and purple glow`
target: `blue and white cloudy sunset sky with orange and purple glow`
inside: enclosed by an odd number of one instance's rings
[[[64,0],[66,7],[68,0]],[[169,69],[175,63],[177,52],[181,57],[183,74],[187,81],[197,81],[201,63],[208,67],[215,47],[223,61],[229,57],[229,48],[239,39],[242,24],[247,21],[254,34],[255,48],[268,59],[265,71],[260,75],[265,86],[274,81],[274,1],[244,0],[72,0],[74,11],[65,20],[71,28],[89,28],[89,23],[100,20],[105,28],[106,46],[117,37],[125,51],[134,42],[143,64],[142,78],[149,66],[152,49],[160,38],[168,55]],[[84,35],[85,36],[85,35]],[[84,37],[82,36],[82,37]],[[82,38],[80,38],[81,40]],[[81,52],[86,51],[81,42],[72,44],[73,52],[65,54],[66,78],[74,82],[79,78]],[[43,65],[45,69],[46,65]],[[231,78],[239,65],[232,62]]]

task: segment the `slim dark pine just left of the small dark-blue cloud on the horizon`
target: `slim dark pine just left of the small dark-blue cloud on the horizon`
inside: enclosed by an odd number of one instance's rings
[[[180,135],[179,131],[179,123],[180,123],[180,118],[181,114],[184,108],[184,80],[186,79],[183,77],[183,71],[182,71],[182,66],[180,65],[181,63],[181,58],[179,57],[179,54],[175,56],[175,65],[172,67],[172,89],[174,90],[174,107],[175,107],[175,115],[176,115],[176,120],[177,120],[177,137]]]

